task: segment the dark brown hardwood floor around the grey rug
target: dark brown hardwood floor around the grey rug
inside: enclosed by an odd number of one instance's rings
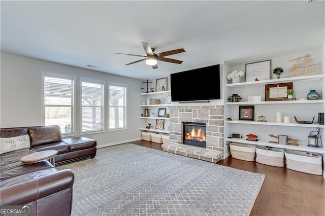
[[[144,140],[132,143],[163,151],[158,143]],[[237,160],[231,156],[218,164],[265,174],[250,215],[325,215],[325,179],[322,175]]]

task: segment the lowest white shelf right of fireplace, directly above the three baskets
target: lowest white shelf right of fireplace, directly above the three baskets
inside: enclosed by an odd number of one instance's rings
[[[258,141],[249,141],[243,138],[226,138],[226,141],[228,142],[240,142],[244,144],[249,145],[255,145],[255,146],[268,146],[273,148],[280,148],[280,149],[290,149],[290,150],[298,150],[298,151],[304,151],[304,152],[312,152],[312,153],[319,153],[324,154],[325,150],[322,148],[315,148],[315,147],[308,147],[308,146],[291,146],[291,145],[280,145],[276,143],[270,143],[268,140],[258,140]]]

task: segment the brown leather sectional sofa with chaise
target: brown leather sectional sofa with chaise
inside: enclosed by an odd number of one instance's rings
[[[25,155],[56,150],[55,164],[85,157],[94,158],[96,141],[86,137],[63,138],[59,126],[3,128],[2,138],[29,135],[30,148],[0,155],[1,205],[29,205],[31,215],[70,215],[72,210],[74,174],[58,171],[49,161],[24,164]]]

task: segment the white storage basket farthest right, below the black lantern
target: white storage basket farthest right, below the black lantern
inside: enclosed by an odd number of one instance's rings
[[[284,151],[286,167],[299,172],[321,175],[321,156],[294,150]]]

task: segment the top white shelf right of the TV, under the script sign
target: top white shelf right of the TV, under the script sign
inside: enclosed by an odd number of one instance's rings
[[[273,80],[261,80],[261,81],[252,81],[252,82],[243,82],[243,83],[231,83],[226,84],[227,87],[236,88],[246,85],[265,85],[270,83],[283,83],[283,82],[292,82],[295,80],[321,80],[325,77],[325,74],[319,75],[310,75],[310,76],[300,76],[300,77],[289,77],[289,78],[280,78],[280,79],[273,79]]]

